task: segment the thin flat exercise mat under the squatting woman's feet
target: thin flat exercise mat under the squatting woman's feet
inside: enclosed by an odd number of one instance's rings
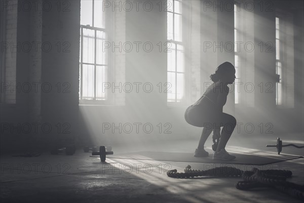
[[[292,159],[303,158],[301,156],[291,155],[257,155],[257,154],[238,154],[231,153],[237,158],[234,160],[213,160],[213,154],[208,157],[195,157],[193,153],[180,153],[180,152],[133,152],[125,154],[115,154],[107,156],[107,158],[119,159],[136,159],[136,160],[157,160],[157,161],[177,161],[177,162],[201,162],[201,163],[234,163],[234,164],[251,164],[251,165],[264,165],[287,161]]]

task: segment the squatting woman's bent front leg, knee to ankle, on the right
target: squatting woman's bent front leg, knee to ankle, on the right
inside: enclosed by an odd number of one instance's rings
[[[220,139],[216,152],[219,152],[221,149],[224,149],[226,147],[226,144],[229,141],[231,134],[237,124],[237,120],[235,119],[235,117],[225,113],[221,114],[219,120],[221,126],[223,126],[223,129],[220,134]]]

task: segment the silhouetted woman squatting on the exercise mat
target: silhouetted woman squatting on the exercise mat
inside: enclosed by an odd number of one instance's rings
[[[207,88],[203,96],[194,105],[186,109],[185,120],[187,123],[197,127],[204,127],[194,156],[209,155],[204,150],[204,145],[210,133],[214,130],[214,133],[218,137],[220,136],[220,140],[213,154],[213,159],[232,160],[236,158],[225,150],[225,146],[231,137],[237,121],[232,115],[223,113],[223,106],[229,93],[227,85],[235,81],[235,73],[235,67],[230,62],[220,64],[215,74],[210,76],[213,84]],[[220,127],[223,127],[221,133]]]

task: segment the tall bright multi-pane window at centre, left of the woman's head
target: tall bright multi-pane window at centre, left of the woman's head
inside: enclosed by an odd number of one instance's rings
[[[184,97],[184,46],[182,43],[182,1],[168,1],[167,40],[169,43],[167,59],[168,90],[167,101],[180,103]]]

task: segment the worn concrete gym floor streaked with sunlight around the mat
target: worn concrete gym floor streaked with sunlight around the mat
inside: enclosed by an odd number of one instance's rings
[[[281,138],[283,144],[298,140],[299,134]],[[288,139],[287,139],[288,138]],[[285,142],[284,142],[285,140]],[[115,153],[132,151],[194,152],[198,140],[162,142],[149,146],[113,146]],[[237,153],[269,153],[276,149],[274,135],[265,137],[234,137],[227,151]],[[302,143],[302,144],[301,144]],[[212,153],[211,139],[206,150]],[[303,149],[283,148],[282,153],[303,156]],[[139,153],[140,154],[140,153]],[[194,169],[210,167],[210,163],[186,163],[135,159],[107,159],[89,157],[79,149],[73,156],[50,155],[39,157],[1,156],[1,202],[302,202],[274,189],[241,191],[235,188],[240,178],[173,179],[167,170],[183,172],[189,164]],[[278,155],[279,156],[279,155]],[[212,164],[220,166],[220,164]],[[304,184],[304,159],[256,166],[267,169],[285,169],[293,173],[290,182]],[[244,165],[242,165],[244,167]]]

